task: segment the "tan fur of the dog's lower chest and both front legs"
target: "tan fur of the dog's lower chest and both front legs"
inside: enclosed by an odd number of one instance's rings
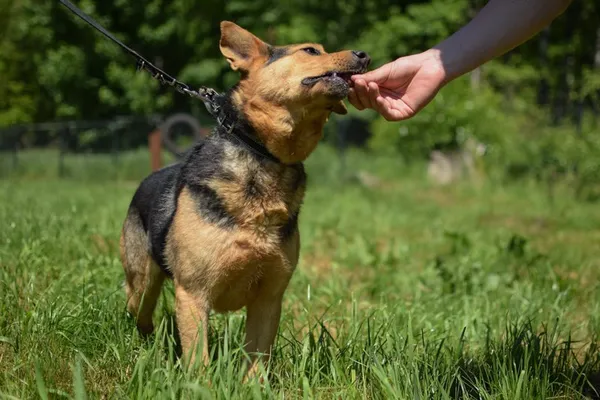
[[[242,214],[245,223],[234,232],[207,224],[196,208],[184,189],[167,237],[171,249],[167,260],[177,265],[176,294],[185,294],[177,306],[184,352],[191,353],[193,363],[198,325],[208,326],[211,309],[226,312],[247,306],[247,350],[268,354],[279,324],[281,298],[298,261],[298,235],[279,245],[272,229],[279,221],[270,218],[271,212],[281,212],[278,206]],[[208,357],[206,333],[203,354]]]

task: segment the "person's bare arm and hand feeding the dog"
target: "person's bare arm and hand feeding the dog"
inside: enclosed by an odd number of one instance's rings
[[[550,24],[572,0],[490,0],[462,29],[423,53],[352,77],[348,96],[389,121],[413,117],[451,80],[520,45]]]

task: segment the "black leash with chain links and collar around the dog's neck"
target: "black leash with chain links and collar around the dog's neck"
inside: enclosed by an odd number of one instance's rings
[[[218,104],[218,98],[221,97],[216,90],[206,87],[200,86],[198,90],[193,90],[190,86],[185,83],[178,81],[173,78],[171,75],[167,74],[162,69],[158,68],[156,65],[152,64],[150,61],[146,60],[142,57],[137,51],[131,49],[129,46],[125,45],[119,39],[117,39],[113,34],[104,29],[102,25],[96,22],[89,15],[81,11],[78,7],[76,7],[69,0],[59,0],[65,7],[67,7],[71,12],[77,15],[79,18],[87,22],[92,28],[100,31],[104,36],[121,46],[123,50],[125,50],[130,55],[134,56],[137,60],[137,70],[146,70],[152,75],[152,77],[158,80],[163,85],[172,86],[180,93],[187,94],[191,97],[198,98],[202,100],[204,106],[208,110],[208,112],[217,120],[217,123],[225,129],[225,131],[229,134],[232,134],[240,144],[244,145],[248,150],[267,158],[271,161],[280,162],[277,157],[271,154],[267,148],[260,143],[258,140],[248,135],[245,132],[234,132],[235,121],[228,121],[227,116],[225,115],[224,110]]]

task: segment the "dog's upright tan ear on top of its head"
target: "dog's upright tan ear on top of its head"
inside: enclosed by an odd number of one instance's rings
[[[268,57],[268,45],[233,22],[221,22],[221,53],[233,70],[248,71],[259,57]]]

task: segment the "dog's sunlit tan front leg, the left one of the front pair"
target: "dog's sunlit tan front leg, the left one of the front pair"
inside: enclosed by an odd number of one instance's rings
[[[208,315],[210,306],[201,293],[191,292],[175,282],[175,302],[177,326],[181,338],[184,360],[193,366],[198,348],[198,331],[202,330],[202,361],[209,363],[208,353]]]

